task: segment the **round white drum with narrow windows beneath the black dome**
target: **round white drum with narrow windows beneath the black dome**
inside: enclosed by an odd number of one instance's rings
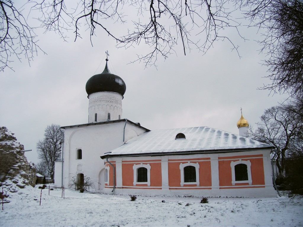
[[[122,119],[122,98],[121,94],[108,91],[90,94],[88,96],[88,123]],[[110,119],[108,119],[108,113]]]

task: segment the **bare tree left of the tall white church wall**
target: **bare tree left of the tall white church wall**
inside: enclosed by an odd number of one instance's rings
[[[55,161],[61,158],[63,137],[60,125],[48,125],[45,129],[44,139],[39,140],[36,146],[41,164],[47,168],[52,179],[54,178]]]

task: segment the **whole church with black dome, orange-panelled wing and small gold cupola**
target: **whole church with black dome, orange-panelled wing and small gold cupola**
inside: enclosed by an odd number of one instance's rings
[[[62,127],[62,160],[55,163],[55,185],[73,176],[95,182],[108,193],[276,196],[268,144],[211,127],[148,130],[122,118],[126,85],[105,69],[88,79],[88,123]]]

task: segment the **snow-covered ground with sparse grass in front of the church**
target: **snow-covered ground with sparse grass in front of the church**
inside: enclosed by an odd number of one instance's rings
[[[106,195],[27,186],[1,208],[1,226],[303,226],[303,200]],[[165,202],[162,202],[165,200]]]

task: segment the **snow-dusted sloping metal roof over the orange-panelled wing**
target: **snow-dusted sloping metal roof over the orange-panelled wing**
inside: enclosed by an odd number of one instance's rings
[[[185,139],[176,139],[178,133],[183,133]],[[272,146],[233,133],[203,126],[145,132],[128,140],[124,145],[112,150],[111,153],[105,154],[105,156],[258,148],[270,149]]]

